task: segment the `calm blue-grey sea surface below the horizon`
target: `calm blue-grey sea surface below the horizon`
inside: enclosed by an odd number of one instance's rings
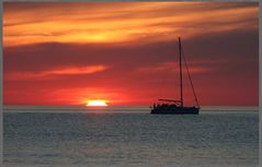
[[[5,165],[257,167],[258,111],[5,109]]]

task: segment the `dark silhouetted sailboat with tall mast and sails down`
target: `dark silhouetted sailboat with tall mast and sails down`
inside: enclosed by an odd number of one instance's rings
[[[200,104],[195,94],[195,90],[193,86],[193,82],[191,80],[190,71],[189,71],[189,65],[186,63],[185,57],[183,55],[182,58],[182,45],[181,45],[181,39],[179,37],[179,62],[180,62],[180,99],[158,99],[160,103],[158,105],[153,104],[151,108],[151,114],[157,114],[157,115],[198,115],[200,112]],[[184,106],[184,98],[183,98],[183,74],[182,74],[182,59],[184,60],[184,64],[186,67],[187,75],[190,79],[191,87],[194,94],[195,103],[196,106]]]

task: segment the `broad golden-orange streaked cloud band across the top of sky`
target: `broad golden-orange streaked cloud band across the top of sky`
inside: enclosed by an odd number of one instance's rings
[[[254,21],[258,5],[239,4],[125,2],[94,3],[91,8],[90,3],[37,3],[26,9],[21,3],[4,2],[3,45],[152,43],[173,40],[178,36],[189,38],[258,28],[258,21]]]

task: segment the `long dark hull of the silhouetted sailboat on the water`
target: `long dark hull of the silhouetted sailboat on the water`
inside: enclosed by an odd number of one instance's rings
[[[200,108],[196,107],[159,107],[152,108],[153,115],[198,115]]]

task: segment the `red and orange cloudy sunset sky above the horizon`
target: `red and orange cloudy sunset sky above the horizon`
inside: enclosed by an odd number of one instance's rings
[[[259,103],[258,2],[3,2],[3,104]],[[193,104],[184,75],[185,104]]]

